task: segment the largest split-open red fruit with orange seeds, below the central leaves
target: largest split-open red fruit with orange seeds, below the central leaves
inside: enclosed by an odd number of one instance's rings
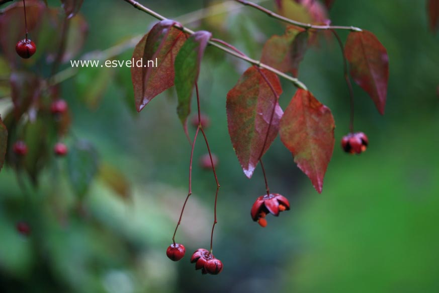
[[[273,193],[270,195],[259,196],[251,207],[251,218],[259,223],[261,227],[267,226],[268,213],[278,216],[281,211],[289,210],[290,202],[284,196]]]

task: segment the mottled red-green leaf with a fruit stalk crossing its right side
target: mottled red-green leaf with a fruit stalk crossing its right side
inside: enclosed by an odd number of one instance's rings
[[[268,83],[273,87],[276,96]],[[278,135],[279,122],[283,115],[278,104],[281,93],[282,87],[277,75],[251,66],[227,94],[229,134],[242,170],[248,178],[253,175],[260,157],[267,152]],[[274,108],[276,110],[267,136]]]

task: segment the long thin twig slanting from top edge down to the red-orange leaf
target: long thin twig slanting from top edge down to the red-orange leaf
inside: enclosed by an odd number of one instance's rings
[[[141,5],[137,1],[134,1],[134,0],[124,0],[124,1],[129,3],[129,4],[131,4],[134,8],[136,8],[136,9],[138,9],[138,10],[144,12],[144,13],[147,13],[150,16],[153,16],[153,17],[155,17],[158,20],[165,20],[166,19],[165,17],[161,16],[160,14],[156,13],[155,11],[152,11],[149,8]],[[183,32],[185,32],[187,34],[190,34],[190,35],[193,35],[195,33],[193,30],[188,29],[187,27],[179,25],[179,24],[174,25],[174,27],[179,29],[179,30],[182,30]],[[229,48],[227,48],[227,47],[225,47],[223,45],[215,43],[213,41],[209,41],[209,45],[217,47],[218,49],[226,52],[227,54],[235,56],[235,57],[237,57],[239,59],[242,59],[242,60],[244,60],[244,61],[246,61],[246,62],[248,62],[250,64],[253,64],[253,65],[256,65],[256,66],[258,66],[260,68],[265,68],[265,69],[267,69],[269,71],[272,71],[273,73],[277,74],[278,76],[280,76],[280,77],[282,77],[282,78],[284,78],[286,80],[289,80],[296,87],[298,87],[300,89],[303,89],[305,91],[308,90],[306,88],[306,86],[301,81],[299,81],[298,79],[293,78],[293,77],[291,77],[291,76],[289,76],[287,74],[284,74],[284,72],[279,71],[278,69],[275,69],[275,68],[273,68],[273,67],[271,67],[271,66],[269,66],[267,64],[261,63],[259,60],[255,60],[255,59],[249,58],[247,56],[243,56],[243,55],[241,55],[241,54],[239,54],[239,53],[237,53],[237,52],[235,52],[235,51],[233,51],[233,50],[231,50],[231,49],[229,49]]]

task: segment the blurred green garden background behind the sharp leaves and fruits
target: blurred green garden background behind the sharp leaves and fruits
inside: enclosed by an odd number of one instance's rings
[[[206,5],[201,0],[141,3],[169,18]],[[272,2],[264,5],[274,9]],[[90,26],[82,52],[114,46],[155,23],[123,1],[85,1],[81,12]],[[330,18],[333,24],[376,34],[388,50],[390,79],[385,116],[355,86],[356,129],[368,135],[370,148],[349,156],[338,145],[349,119],[339,48],[323,40],[307,52],[299,78],[331,108],[337,125],[321,195],[278,138],[264,161],[272,192],[289,198],[292,208],[269,217],[265,229],[251,221],[250,207],[264,194],[264,180],[260,169],[251,180],[242,173],[225,112],[226,94],[248,65],[208,48],[201,103],[211,118],[206,132],[219,158],[214,254],[224,270],[201,275],[189,262],[193,251],[209,247],[213,221],[214,178],[197,164],[194,194],[177,235],[187,255],[169,261],[165,249],[187,194],[190,155],[174,91],[156,97],[138,114],[129,68],[82,69],[62,88],[73,113],[72,131],[95,145],[101,162],[125,174],[131,197],[123,199],[95,180],[78,213],[64,159],[55,162],[58,169],[45,169],[38,190],[29,183],[20,188],[15,173],[4,168],[0,291],[438,292],[439,34],[428,31],[424,1],[336,0]],[[213,30],[255,58],[265,40],[284,31],[282,24],[250,8],[188,26]],[[131,54],[129,49],[117,59]],[[113,79],[103,82],[108,87],[91,109],[84,103],[90,81],[105,75]],[[295,89],[283,84],[285,108]],[[195,162],[205,153],[200,139]],[[31,226],[29,237],[17,233],[20,221]]]

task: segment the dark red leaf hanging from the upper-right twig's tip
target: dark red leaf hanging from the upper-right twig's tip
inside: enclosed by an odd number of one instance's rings
[[[389,57],[386,48],[368,31],[351,32],[345,45],[350,75],[384,114],[389,80]]]

